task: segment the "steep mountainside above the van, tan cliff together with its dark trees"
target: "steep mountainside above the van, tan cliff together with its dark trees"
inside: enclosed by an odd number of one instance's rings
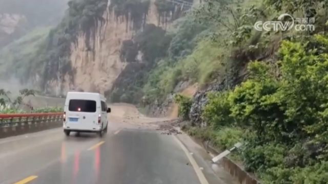
[[[163,0],[72,1],[69,7],[66,17],[49,34],[45,58],[37,58],[46,67],[43,80],[34,82],[56,95],[70,89],[105,93],[132,62],[151,68],[156,58],[150,56],[153,51],[147,50],[142,33],[151,29],[164,36],[170,22],[187,10]],[[136,47],[132,61],[122,54],[129,41]]]

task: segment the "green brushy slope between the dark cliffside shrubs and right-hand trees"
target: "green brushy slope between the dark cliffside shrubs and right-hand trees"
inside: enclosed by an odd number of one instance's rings
[[[209,28],[207,26],[196,22],[191,14],[174,22],[172,30],[167,33],[172,37],[168,52],[165,53],[165,56],[162,55],[162,59],[150,72],[147,83],[143,87],[146,104],[155,100],[159,102],[165,100],[179,81],[189,80],[189,78],[193,81],[204,79],[203,74],[199,71],[206,71],[209,63],[203,63],[202,57],[206,54],[202,55],[202,51],[209,49],[207,54],[217,51],[217,48],[211,47],[213,45],[210,41],[205,40],[197,45],[208,35]],[[195,48],[198,52],[192,53]],[[206,57],[214,58],[215,55],[206,55]],[[214,59],[209,62],[213,61]],[[210,71],[213,72],[214,69],[210,68],[206,73],[209,74]]]

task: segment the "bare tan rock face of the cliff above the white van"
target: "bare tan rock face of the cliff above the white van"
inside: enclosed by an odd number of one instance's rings
[[[110,7],[110,3],[108,5]],[[157,12],[154,1],[149,4],[148,12],[141,25],[154,24],[167,28],[173,15],[163,16]],[[114,81],[127,66],[121,59],[122,42],[131,40],[137,31],[131,14],[118,15],[110,8],[104,12],[104,20],[98,22],[91,34],[80,31],[77,41],[71,44],[71,73],[48,81],[47,90],[55,95],[66,94],[68,90],[97,91],[103,93],[111,89]],[[90,36],[92,35],[92,36]],[[139,53],[137,58],[141,58]],[[137,60],[139,60],[137,59]]]

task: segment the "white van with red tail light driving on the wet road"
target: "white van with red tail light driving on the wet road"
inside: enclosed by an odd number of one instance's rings
[[[63,128],[67,136],[70,132],[107,132],[106,98],[97,93],[68,92],[64,106]]]

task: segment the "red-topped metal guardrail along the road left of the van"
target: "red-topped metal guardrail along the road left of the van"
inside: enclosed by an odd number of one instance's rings
[[[56,123],[60,121],[63,121],[63,112],[0,114],[0,127],[19,127],[39,123]]]

